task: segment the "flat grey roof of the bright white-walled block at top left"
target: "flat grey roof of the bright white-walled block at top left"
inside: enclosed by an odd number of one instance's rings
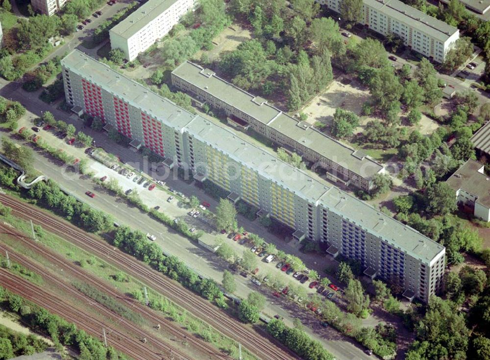
[[[148,0],[110,31],[129,39],[178,0]]]

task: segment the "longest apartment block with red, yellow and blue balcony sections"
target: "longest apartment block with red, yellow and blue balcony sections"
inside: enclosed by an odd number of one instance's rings
[[[69,104],[254,205],[291,227],[295,238],[357,259],[366,274],[395,282],[409,298],[426,302],[441,288],[440,244],[78,50],[61,65]]]

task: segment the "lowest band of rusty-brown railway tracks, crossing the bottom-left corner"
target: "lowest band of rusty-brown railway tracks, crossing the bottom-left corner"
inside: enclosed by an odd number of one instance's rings
[[[89,314],[82,312],[81,310],[73,307],[57,298],[55,295],[50,294],[43,290],[41,287],[34,285],[27,280],[12,275],[7,270],[0,268],[0,282],[4,288],[9,289],[13,293],[16,293],[23,298],[49,310],[49,312],[55,313],[69,322],[73,322],[80,329],[85,330],[92,336],[100,339],[100,332],[102,328],[106,329],[110,334],[111,345],[114,346],[120,352],[129,355],[136,360],[161,360],[165,359],[162,354],[156,353],[141,341],[137,341],[122,334],[114,327],[107,326],[90,316]]]

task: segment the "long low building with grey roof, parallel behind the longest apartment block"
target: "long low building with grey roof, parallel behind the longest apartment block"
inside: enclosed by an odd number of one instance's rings
[[[182,63],[172,72],[172,84],[197,100],[224,110],[229,124],[244,130],[250,127],[273,143],[297,152],[315,167],[325,168],[333,181],[369,190],[372,177],[384,171],[381,164],[362,151],[295,120],[266,99],[237,88],[209,69],[189,61]]]

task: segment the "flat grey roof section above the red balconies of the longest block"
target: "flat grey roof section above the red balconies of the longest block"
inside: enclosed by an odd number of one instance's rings
[[[89,79],[109,93],[118,96],[148,115],[164,121],[174,129],[181,129],[195,115],[159,96],[140,83],[112,70],[80,50],[73,50],[61,60],[61,65]]]

